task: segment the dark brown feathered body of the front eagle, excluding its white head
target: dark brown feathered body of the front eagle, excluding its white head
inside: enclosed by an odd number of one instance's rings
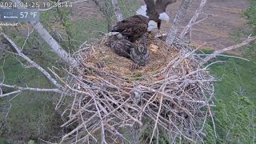
[[[147,24],[149,19],[142,15],[134,15],[126,18],[114,26],[112,32],[119,32],[126,37],[130,42],[135,42],[147,32]]]

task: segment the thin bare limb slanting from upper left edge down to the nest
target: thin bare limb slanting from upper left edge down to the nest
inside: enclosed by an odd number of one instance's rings
[[[16,52],[18,53],[18,55],[24,59],[26,59],[27,62],[29,62],[32,66],[34,66],[35,68],[37,68],[39,71],[42,72],[42,74],[44,74],[46,76],[46,78],[48,78],[50,80],[50,82],[52,82],[54,84],[54,86],[58,87],[58,89],[61,89],[62,86],[60,84],[58,84],[58,82],[52,78],[50,76],[50,74],[44,70],[41,66],[39,66],[37,63],[35,63],[34,61],[32,61],[30,58],[28,58],[25,54],[22,53],[22,50],[6,35],[2,33],[2,36],[4,38],[6,38],[6,40],[8,42],[10,42],[11,46],[14,47],[14,49],[16,50]]]

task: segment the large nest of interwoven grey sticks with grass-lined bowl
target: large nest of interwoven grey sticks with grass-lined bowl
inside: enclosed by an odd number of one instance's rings
[[[62,142],[202,142],[214,77],[188,44],[151,44],[158,50],[150,50],[150,62],[135,70],[130,59],[106,46],[106,38],[78,52],[82,64],[70,71],[66,89],[74,97],[65,112],[70,119],[62,125],[73,127]]]

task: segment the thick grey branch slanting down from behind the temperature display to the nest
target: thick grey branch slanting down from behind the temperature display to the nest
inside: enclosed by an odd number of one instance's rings
[[[20,4],[20,0],[10,0],[11,2]],[[20,5],[17,5],[20,9]],[[58,55],[58,57],[62,58],[62,60],[68,63],[70,66],[78,66],[78,62],[67,54],[65,50],[62,49],[62,46],[56,42],[56,40],[49,34],[49,32],[42,26],[40,22],[30,22],[30,25],[34,27],[35,30],[38,31],[38,34],[46,41],[46,43],[54,50],[54,53]]]

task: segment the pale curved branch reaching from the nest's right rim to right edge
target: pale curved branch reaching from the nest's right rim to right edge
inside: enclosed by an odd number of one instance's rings
[[[210,59],[212,58],[215,58],[218,54],[222,54],[223,52],[225,51],[228,51],[228,50],[234,50],[234,49],[238,49],[242,46],[246,46],[248,45],[250,42],[253,42],[254,40],[256,40],[256,37],[252,37],[252,38],[247,38],[245,41],[241,42],[241,43],[238,43],[237,45],[234,45],[234,46],[229,46],[229,47],[226,47],[222,50],[216,50],[214,51],[213,54],[210,54],[209,56],[207,56],[206,58],[203,59],[203,61],[200,63],[201,65],[205,64],[206,62],[208,62]]]

